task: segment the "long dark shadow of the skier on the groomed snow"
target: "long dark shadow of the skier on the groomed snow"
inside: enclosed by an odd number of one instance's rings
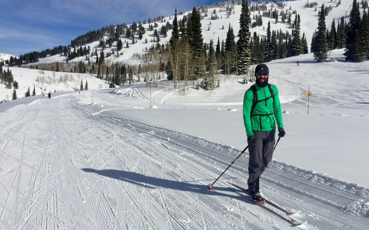
[[[239,196],[239,195],[229,195],[225,193],[220,193],[220,191],[229,192],[230,189],[226,187],[216,187],[217,192],[209,191],[205,184],[191,184],[188,182],[179,182],[168,179],[161,179],[152,176],[145,176],[140,173],[128,172],[123,170],[115,170],[115,169],[103,169],[96,170],[90,168],[83,168],[84,172],[96,173],[101,176],[110,177],[113,179],[121,180],[124,182],[128,182],[131,184],[135,184],[137,186],[145,187],[145,188],[169,188],[172,190],[193,192],[205,195],[217,195],[222,197],[234,198],[240,201],[248,201],[247,199]],[[230,179],[230,178],[228,178]],[[241,190],[240,190],[241,191]]]

